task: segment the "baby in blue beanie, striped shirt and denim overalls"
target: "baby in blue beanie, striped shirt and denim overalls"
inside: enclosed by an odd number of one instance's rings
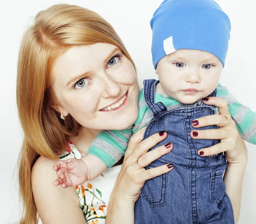
[[[230,39],[230,20],[213,0],[165,0],[151,19],[152,58],[159,80],[144,80],[139,116],[128,129],[101,132],[87,155],[57,162],[70,175],[70,186],[92,180],[124,155],[131,135],[147,126],[144,138],[166,131],[167,138],[152,149],[172,142],[171,153],[145,169],[171,163],[172,172],[145,182],[135,205],[135,224],[234,223],[222,175],[223,153],[201,157],[199,149],[219,140],[192,139],[197,118],[218,112],[204,104],[208,97],[227,101],[244,140],[256,144],[255,112],[241,105],[219,82]],[[123,97],[125,101],[126,95]],[[227,118],[227,123],[230,118]],[[215,129],[207,126],[201,129]],[[198,132],[192,132],[194,136]],[[139,164],[138,164],[139,165]],[[60,166],[58,165],[56,169]],[[70,187],[68,186],[68,187]]]

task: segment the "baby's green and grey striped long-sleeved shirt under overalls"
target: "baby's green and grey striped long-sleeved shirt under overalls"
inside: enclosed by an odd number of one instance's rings
[[[256,114],[249,107],[239,103],[236,98],[228,92],[226,87],[218,84],[216,96],[225,99],[236,127],[242,138],[252,144],[256,144]],[[167,110],[185,108],[188,106],[201,106],[201,100],[193,104],[182,104],[171,97],[163,97],[160,93],[155,94],[155,103],[162,102]],[[216,107],[216,113],[218,108]],[[122,155],[125,154],[131,135],[148,125],[153,118],[144,99],[143,89],[139,94],[139,115],[137,120],[128,129],[124,130],[105,130],[102,131],[93,141],[88,150],[88,154],[92,154],[100,158],[108,168],[112,167]]]

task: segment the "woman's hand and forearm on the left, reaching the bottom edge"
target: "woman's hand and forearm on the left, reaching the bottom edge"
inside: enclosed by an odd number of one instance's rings
[[[148,152],[167,137],[167,132],[159,132],[143,140],[144,132],[145,128],[140,129],[129,141],[122,169],[111,194],[106,224],[134,224],[134,204],[140,196],[145,181],[173,169],[172,164],[151,169],[143,168],[171,152],[173,148],[171,143],[167,143]]]

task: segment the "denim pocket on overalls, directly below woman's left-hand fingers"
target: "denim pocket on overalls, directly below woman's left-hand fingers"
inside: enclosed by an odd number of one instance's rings
[[[151,167],[149,167],[150,169]],[[141,196],[151,205],[165,203],[167,173],[147,180],[141,190]]]

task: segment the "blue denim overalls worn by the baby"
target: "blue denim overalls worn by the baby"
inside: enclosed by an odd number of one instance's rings
[[[135,224],[234,224],[233,209],[225,192],[222,175],[227,167],[223,153],[201,157],[198,150],[219,140],[193,139],[192,121],[215,114],[215,106],[166,110],[154,103],[156,80],[144,81],[144,100],[154,118],[148,123],[144,139],[156,132],[168,136],[152,149],[171,142],[172,152],[163,155],[145,169],[171,163],[174,169],[145,182],[135,204]],[[216,90],[209,96],[215,96]],[[199,129],[216,129],[207,126]],[[150,151],[149,150],[149,151]]]

